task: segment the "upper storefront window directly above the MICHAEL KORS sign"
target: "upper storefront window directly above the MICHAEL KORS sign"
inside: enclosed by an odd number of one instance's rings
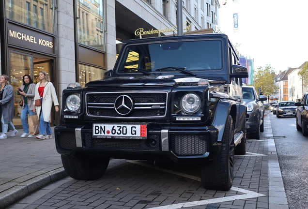
[[[6,0],[7,18],[54,33],[53,0]]]

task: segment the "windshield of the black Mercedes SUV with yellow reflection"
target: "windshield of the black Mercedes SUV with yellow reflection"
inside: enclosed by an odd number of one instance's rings
[[[217,71],[222,69],[220,40],[128,45],[118,73]],[[140,72],[140,71],[139,71]]]

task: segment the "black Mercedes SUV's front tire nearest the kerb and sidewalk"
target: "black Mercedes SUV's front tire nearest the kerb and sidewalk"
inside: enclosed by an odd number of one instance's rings
[[[98,179],[105,173],[110,158],[94,157],[87,154],[78,157],[61,155],[62,164],[70,177],[78,180]]]

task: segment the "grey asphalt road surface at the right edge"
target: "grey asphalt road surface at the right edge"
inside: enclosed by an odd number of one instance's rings
[[[295,118],[269,114],[290,209],[308,208],[308,137],[296,130]]]

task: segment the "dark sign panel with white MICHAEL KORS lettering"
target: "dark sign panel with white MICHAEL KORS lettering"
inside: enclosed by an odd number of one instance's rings
[[[8,44],[55,55],[55,37],[8,22]]]

